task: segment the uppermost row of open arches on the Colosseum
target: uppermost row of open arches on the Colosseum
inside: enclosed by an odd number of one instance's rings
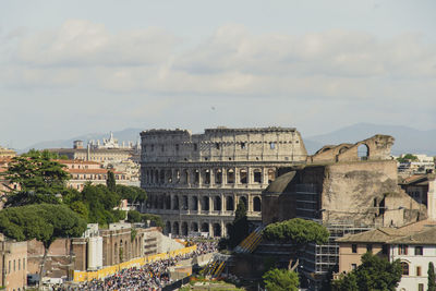
[[[266,184],[276,179],[272,168],[143,169],[144,184]]]

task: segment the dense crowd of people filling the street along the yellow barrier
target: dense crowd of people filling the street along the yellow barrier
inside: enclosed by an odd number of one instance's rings
[[[199,255],[217,251],[216,242],[198,242],[196,251],[178,255],[161,260],[145,264],[141,268],[123,269],[101,280],[93,280],[81,283],[78,287],[56,287],[53,290],[88,290],[88,291],[159,291],[169,283],[172,283],[169,268],[175,266],[183,259],[193,258]]]

